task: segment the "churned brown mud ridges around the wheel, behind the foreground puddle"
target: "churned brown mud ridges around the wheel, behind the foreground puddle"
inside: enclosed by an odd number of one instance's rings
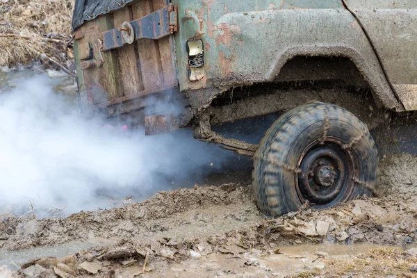
[[[140,204],[80,212],[68,218],[10,217],[0,223],[0,250],[81,240],[100,246],[74,256],[75,264],[92,256],[92,261],[102,266],[111,261],[115,267],[123,265],[127,257],[144,263],[148,256],[162,269],[162,265],[194,256],[275,252],[280,245],[375,243],[407,247],[417,240],[416,172],[416,156],[389,155],[381,162],[383,192],[379,198],[363,197],[325,211],[304,208],[275,220],[265,220],[259,213],[250,186],[234,183],[161,192]],[[42,263],[45,269],[58,264],[32,261],[24,268]]]

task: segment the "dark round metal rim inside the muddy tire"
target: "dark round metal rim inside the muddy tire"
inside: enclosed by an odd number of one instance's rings
[[[304,149],[298,167],[297,195],[316,208],[326,208],[344,202],[354,195],[358,163],[350,149],[344,149],[345,142],[337,138],[317,140]]]

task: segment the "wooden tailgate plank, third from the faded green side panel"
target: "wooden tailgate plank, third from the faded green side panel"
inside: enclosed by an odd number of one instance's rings
[[[117,10],[113,14],[113,22],[115,27],[122,26],[123,22],[130,22],[133,20],[131,14],[131,7],[125,7],[122,10]],[[136,44],[126,44],[124,47],[117,49],[119,52],[119,67],[120,67],[120,83],[124,95],[137,94],[142,88],[142,76],[139,75],[140,67],[138,68],[139,54],[136,50]]]

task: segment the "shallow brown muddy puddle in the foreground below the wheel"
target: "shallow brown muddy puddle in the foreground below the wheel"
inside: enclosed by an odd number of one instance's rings
[[[278,246],[270,254],[252,250],[244,254],[213,253],[171,265],[169,270],[150,277],[288,277],[300,272],[325,268],[326,263],[350,260],[357,254],[387,247],[374,244]],[[400,247],[393,247],[398,248]],[[267,275],[267,276],[265,276]]]

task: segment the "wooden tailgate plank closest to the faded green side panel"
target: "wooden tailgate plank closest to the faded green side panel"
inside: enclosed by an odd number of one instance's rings
[[[159,10],[167,6],[166,0],[154,0],[154,10]],[[163,81],[165,85],[177,85],[177,77],[174,73],[174,66],[172,65],[172,36],[161,38],[158,40],[159,56],[161,57],[161,66],[163,72]]]

